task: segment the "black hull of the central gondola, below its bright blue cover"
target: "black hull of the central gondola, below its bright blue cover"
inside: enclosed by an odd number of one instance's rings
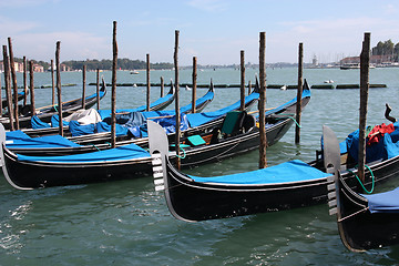
[[[167,167],[165,195],[171,213],[187,222],[277,212],[320,203],[326,180],[258,186],[190,182]]]

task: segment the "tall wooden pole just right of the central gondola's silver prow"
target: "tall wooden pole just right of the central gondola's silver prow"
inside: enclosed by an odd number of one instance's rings
[[[176,149],[176,167],[181,168],[181,157],[180,157],[180,124],[181,124],[181,114],[180,114],[180,86],[178,86],[178,34],[180,31],[175,30],[175,49],[174,49],[174,68],[175,68],[175,111],[176,111],[176,133],[175,133],[175,149]]]

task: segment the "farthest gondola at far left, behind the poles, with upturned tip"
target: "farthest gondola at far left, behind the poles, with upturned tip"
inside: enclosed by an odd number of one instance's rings
[[[100,89],[100,99],[104,98],[105,94],[106,94],[106,86],[105,86],[105,82],[103,80],[101,89]],[[96,103],[96,93],[85,98],[85,108],[86,109],[93,106],[95,103]],[[71,114],[71,112],[74,112],[81,108],[82,108],[82,99],[81,98],[62,103],[63,115]],[[42,122],[45,122],[45,123],[49,123],[51,120],[51,116],[54,114],[58,114],[57,105],[37,109],[37,116]],[[25,112],[25,113],[23,113],[23,115],[19,116],[20,129],[32,127],[31,126],[31,116],[32,115],[31,115],[30,111]],[[10,129],[9,117],[0,117],[0,123],[2,123],[6,129]]]

